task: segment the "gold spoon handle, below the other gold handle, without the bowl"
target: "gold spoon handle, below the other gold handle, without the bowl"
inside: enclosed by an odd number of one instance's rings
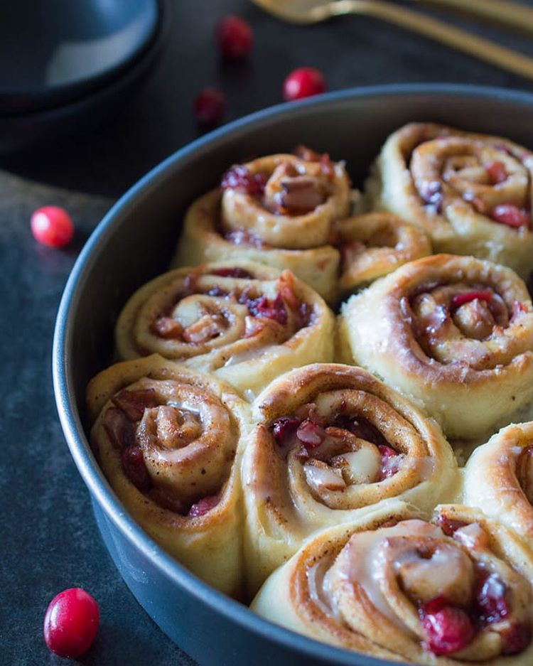
[[[528,58],[527,55],[517,53],[517,51],[473,35],[461,28],[450,26],[443,21],[437,21],[436,18],[419,14],[417,11],[382,0],[338,0],[338,2],[331,3],[328,9],[330,16],[366,14],[380,18],[382,21],[394,23],[394,25],[474,55],[480,60],[486,60],[486,62],[514,74],[533,79],[533,58]]]

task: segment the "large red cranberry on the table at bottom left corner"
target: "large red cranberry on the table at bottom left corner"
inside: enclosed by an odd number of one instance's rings
[[[44,619],[44,638],[48,650],[60,657],[80,657],[91,647],[98,630],[98,604],[80,587],[56,595]]]

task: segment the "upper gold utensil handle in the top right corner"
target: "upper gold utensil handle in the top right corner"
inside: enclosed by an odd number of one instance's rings
[[[504,28],[533,34],[533,9],[506,0],[414,0],[419,4],[453,9],[461,14],[488,18]]]

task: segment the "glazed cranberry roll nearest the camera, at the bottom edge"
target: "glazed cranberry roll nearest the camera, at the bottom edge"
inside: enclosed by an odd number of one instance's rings
[[[481,512],[441,505],[426,522],[391,506],[303,544],[252,608],[374,656],[525,666],[533,658],[532,576],[532,555]]]

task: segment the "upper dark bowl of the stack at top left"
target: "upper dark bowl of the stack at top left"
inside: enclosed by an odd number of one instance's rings
[[[146,48],[157,21],[157,0],[1,2],[0,116],[96,90]]]

